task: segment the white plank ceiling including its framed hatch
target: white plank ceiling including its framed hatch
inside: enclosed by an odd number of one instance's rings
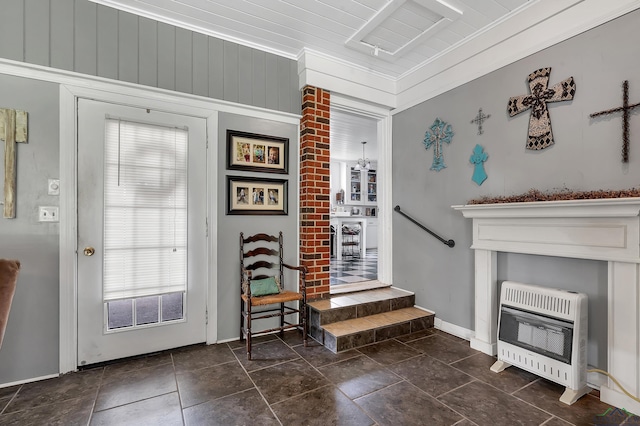
[[[399,78],[472,39],[528,3],[528,0],[92,1],[288,58],[296,59],[307,49],[391,78]]]

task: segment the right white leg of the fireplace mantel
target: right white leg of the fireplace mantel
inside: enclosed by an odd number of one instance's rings
[[[609,262],[608,372],[635,397],[640,396],[640,266]],[[640,403],[611,379],[600,388],[600,400],[640,414]]]

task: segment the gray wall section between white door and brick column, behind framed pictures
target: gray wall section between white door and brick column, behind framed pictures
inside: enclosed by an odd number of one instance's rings
[[[235,114],[219,115],[218,139],[226,140],[227,129],[242,130],[250,133],[289,138],[289,174],[251,173],[226,169],[226,145],[218,146],[218,340],[237,338],[240,335],[240,271],[239,271],[239,238],[240,232],[245,236],[259,232],[277,235],[282,231],[284,237],[284,262],[298,265],[298,126],[277,123],[270,120],[251,119]],[[226,215],[227,198],[226,176],[253,176],[267,179],[286,179],[288,184],[289,214],[274,216],[241,216]],[[285,274],[285,285],[295,289],[297,285],[294,274]],[[268,324],[263,321],[258,327]],[[275,323],[274,323],[275,325]]]

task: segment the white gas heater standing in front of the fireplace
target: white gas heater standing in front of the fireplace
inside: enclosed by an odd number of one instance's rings
[[[503,282],[498,361],[491,371],[511,365],[566,386],[560,397],[565,404],[588,393],[587,296]]]

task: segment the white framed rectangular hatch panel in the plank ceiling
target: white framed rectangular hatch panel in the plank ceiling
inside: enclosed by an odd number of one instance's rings
[[[461,10],[440,0],[390,0],[345,45],[392,61],[461,16]]]

